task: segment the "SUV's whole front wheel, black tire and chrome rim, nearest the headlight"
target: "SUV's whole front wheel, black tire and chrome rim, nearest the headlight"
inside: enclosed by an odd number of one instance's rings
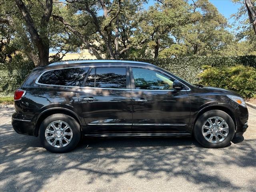
[[[212,125],[210,124],[209,119],[211,120]],[[203,132],[205,136],[203,135]],[[233,139],[235,134],[235,124],[226,112],[221,110],[210,110],[200,115],[197,119],[193,133],[196,140],[202,146],[206,148],[222,148],[230,144]],[[224,140],[222,140],[223,138]]]

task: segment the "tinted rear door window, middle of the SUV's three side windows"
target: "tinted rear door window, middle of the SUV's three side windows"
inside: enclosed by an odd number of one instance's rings
[[[94,80],[96,88],[126,89],[126,68],[93,68],[86,80],[85,86],[94,87]]]

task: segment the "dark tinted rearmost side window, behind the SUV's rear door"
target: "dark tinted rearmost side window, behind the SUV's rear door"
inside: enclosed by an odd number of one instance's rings
[[[66,68],[47,71],[38,80],[38,83],[62,86],[81,86],[88,67]]]

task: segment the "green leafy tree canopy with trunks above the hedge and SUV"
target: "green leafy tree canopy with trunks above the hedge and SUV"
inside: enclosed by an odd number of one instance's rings
[[[232,31],[209,0],[2,0],[0,62],[44,66],[84,49],[98,59],[256,54],[248,9],[233,1]]]

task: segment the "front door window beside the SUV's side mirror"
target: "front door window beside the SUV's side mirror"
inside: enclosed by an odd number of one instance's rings
[[[132,68],[136,89],[144,90],[172,90],[173,80],[154,70]]]

